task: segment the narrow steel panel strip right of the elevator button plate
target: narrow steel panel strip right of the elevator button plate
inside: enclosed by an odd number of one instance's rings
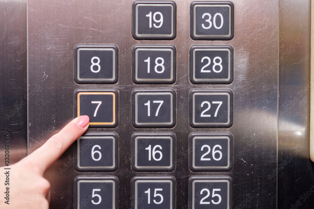
[[[278,208],[311,208],[311,1],[281,0],[279,13]]]

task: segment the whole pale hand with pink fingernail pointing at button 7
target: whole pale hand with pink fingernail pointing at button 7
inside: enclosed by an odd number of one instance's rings
[[[3,175],[8,170],[1,167],[0,208],[48,209],[50,183],[43,175],[88,126],[87,116],[75,118],[32,154],[10,166],[8,186],[4,185]],[[9,187],[9,205],[4,199],[6,187]]]

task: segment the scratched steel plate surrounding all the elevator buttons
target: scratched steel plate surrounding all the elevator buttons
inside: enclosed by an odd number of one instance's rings
[[[28,1],[29,153],[73,118],[73,92],[77,88],[114,88],[119,91],[119,125],[89,129],[119,136],[116,172],[76,172],[73,147],[46,173],[51,181],[51,208],[73,207],[76,176],[116,176],[119,208],[131,207],[131,179],[135,175],[171,175],[176,178],[176,208],[187,208],[191,176],[228,175],[233,178],[234,208],[276,208],[277,91],[279,62],[279,1],[234,0],[235,36],[230,41],[195,41],[189,35],[192,1],[177,0],[177,37],[169,41],[135,40],[131,34],[133,1]],[[78,85],[73,79],[76,44],[115,44],[119,48],[119,81],[113,85]],[[131,49],[136,44],[169,44],[177,49],[177,81],[173,85],[135,85]],[[234,48],[234,81],[229,85],[193,85],[188,76],[192,45],[229,44]],[[177,124],[159,131],[176,134],[176,169],[172,172],[134,172],[131,169],[131,135],[152,132],[131,124],[131,92],[141,88],[176,91]],[[230,128],[191,128],[188,94],[192,89],[231,89],[234,123]],[[35,91],[39,89],[39,91]],[[192,172],[188,167],[190,133],[231,133],[234,166],[229,172]],[[273,173],[275,173],[273,175]]]

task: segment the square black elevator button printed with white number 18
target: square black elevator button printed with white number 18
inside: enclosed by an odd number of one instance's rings
[[[134,83],[172,84],[176,81],[174,46],[135,46],[132,54]]]

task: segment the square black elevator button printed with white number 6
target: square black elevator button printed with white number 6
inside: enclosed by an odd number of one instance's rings
[[[75,145],[77,171],[118,169],[118,136],[115,133],[85,133]]]

